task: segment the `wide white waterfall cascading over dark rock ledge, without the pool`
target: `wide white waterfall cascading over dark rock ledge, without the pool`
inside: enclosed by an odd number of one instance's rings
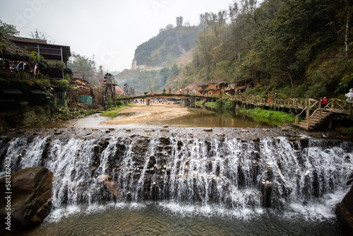
[[[243,142],[197,138],[1,139],[11,170],[54,173],[54,206],[167,201],[180,206],[331,210],[352,184],[353,144],[285,137]],[[3,164],[4,165],[4,164]],[[4,176],[5,165],[0,177]],[[115,196],[103,182],[116,190]],[[299,210],[298,210],[299,211]]]

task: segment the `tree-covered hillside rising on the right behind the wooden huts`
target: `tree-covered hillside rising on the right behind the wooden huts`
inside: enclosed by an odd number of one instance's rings
[[[169,86],[259,78],[248,93],[338,96],[353,87],[352,1],[234,1],[210,13],[192,64]]]

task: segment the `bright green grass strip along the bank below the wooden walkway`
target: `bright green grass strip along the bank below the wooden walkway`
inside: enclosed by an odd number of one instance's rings
[[[287,112],[278,112],[272,110],[254,109],[254,110],[244,110],[241,109],[239,112],[243,114],[249,114],[254,117],[261,117],[267,119],[273,119],[279,122],[295,122],[295,115],[288,114]],[[299,117],[300,118],[300,117]],[[299,119],[300,122],[300,119]]]

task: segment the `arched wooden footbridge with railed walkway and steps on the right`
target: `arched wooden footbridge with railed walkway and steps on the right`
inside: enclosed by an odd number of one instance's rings
[[[245,95],[243,93],[238,95],[222,95],[222,96],[205,96],[205,95],[189,95],[184,93],[157,93],[148,95],[136,95],[136,96],[124,96],[116,98],[116,100],[146,100],[146,105],[150,105],[150,100],[160,98],[177,98],[177,99],[191,99],[191,100],[203,100],[215,101],[217,99],[232,100],[237,103],[237,106],[244,107],[266,107],[272,110],[294,110],[296,113],[300,112],[296,116],[295,124],[300,129],[312,130],[315,129],[323,122],[330,121],[333,114],[352,114],[352,103],[332,98],[327,101],[323,107],[321,101],[314,100],[311,98],[289,98],[289,99],[277,99],[277,98],[261,98],[260,96]],[[306,112],[306,113],[304,113]],[[299,123],[299,116],[305,114],[306,118],[304,121]]]

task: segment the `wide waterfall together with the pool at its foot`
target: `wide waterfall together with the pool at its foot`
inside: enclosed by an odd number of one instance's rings
[[[26,235],[342,235],[333,211],[353,177],[353,143],[345,141],[0,142],[13,172],[54,172],[52,213]]]

